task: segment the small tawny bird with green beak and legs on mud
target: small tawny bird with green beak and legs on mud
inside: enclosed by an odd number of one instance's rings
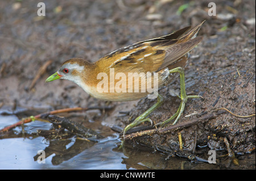
[[[174,119],[172,124],[176,124],[188,98],[203,98],[200,95],[186,94],[184,77],[184,67],[191,50],[203,40],[203,37],[196,37],[203,23],[192,29],[191,26],[181,28],[169,35],[119,48],[96,62],[71,58],[49,76],[46,82],[68,79],[94,98],[110,102],[138,100],[145,96],[156,98],[157,102],[152,107],[123,129],[125,136],[129,129],[144,121],[149,121],[152,125],[148,115],[164,102],[158,89],[168,85],[175,74],[179,74],[180,95],[177,96],[181,100],[180,106],[170,119],[155,125],[164,127]]]

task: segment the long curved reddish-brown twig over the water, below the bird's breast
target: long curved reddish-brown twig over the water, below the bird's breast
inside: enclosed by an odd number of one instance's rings
[[[30,116],[30,117],[26,117],[22,120],[20,120],[19,122],[9,125],[3,129],[0,130],[1,132],[5,132],[5,131],[9,131],[9,129],[13,129],[15,127],[18,127],[19,125],[25,124],[25,123],[30,123],[31,121],[40,119],[40,118],[44,118],[47,117],[48,115],[55,115],[56,113],[63,113],[63,112],[73,112],[73,111],[87,111],[87,110],[109,110],[112,109],[113,107],[86,107],[86,108],[82,108],[82,107],[74,107],[74,108],[65,108],[65,109],[61,109],[61,110],[54,110],[54,111],[49,111],[49,112],[45,112],[45,113],[40,113],[39,115],[36,116]]]

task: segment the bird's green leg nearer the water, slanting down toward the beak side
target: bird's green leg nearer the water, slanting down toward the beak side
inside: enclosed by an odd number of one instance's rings
[[[162,95],[159,95],[159,94],[158,94],[158,98],[157,98],[157,99],[158,99],[158,102],[156,102],[156,103],[155,103],[152,107],[150,107],[147,111],[145,111],[144,113],[142,113],[141,116],[137,117],[137,118],[133,121],[133,123],[127,125],[127,126],[125,127],[125,129],[123,129],[123,135],[125,135],[125,133],[126,133],[129,129],[131,129],[131,128],[137,126],[138,124],[143,123],[144,121],[150,121],[150,123],[152,124],[151,119],[146,118],[146,117],[147,117],[148,115],[150,115],[151,112],[153,112],[154,110],[156,110],[156,108],[158,108],[159,106],[161,106],[161,105],[163,104],[163,96],[162,96]]]

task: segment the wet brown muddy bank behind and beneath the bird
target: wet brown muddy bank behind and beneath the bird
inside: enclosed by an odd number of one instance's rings
[[[178,141],[177,134],[181,133],[184,150],[195,154],[202,152],[195,150],[195,145],[227,154],[226,138],[241,160],[243,155],[255,155],[255,116],[237,117],[217,110],[226,108],[241,116],[255,114],[254,1],[214,1],[217,16],[208,15],[208,1],[44,1],[43,17],[36,14],[38,2],[0,3],[0,108],[26,108],[29,116],[30,111],[114,106],[112,111],[65,115],[72,120],[80,116],[80,123],[96,131],[103,129],[104,136],[109,136],[114,133],[109,127],[125,127],[156,100],[109,103],[92,98],[73,82],[46,83],[46,78],[71,57],[94,62],[115,49],[196,26],[206,19],[198,35],[204,39],[192,50],[184,69],[187,94],[204,99],[189,99],[177,124],[214,116],[164,135],[139,137],[129,144],[137,148],[137,143],[143,142],[152,149],[154,145],[170,146],[170,140]],[[177,13],[185,4],[187,9]],[[39,69],[49,60],[51,64],[31,87]],[[180,100],[172,94],[174,91],[179,92],[179,78],[159,91],[164,104],[151,113],[154,123],[176,112]],[[236,169],[255,169],[255,159]]]

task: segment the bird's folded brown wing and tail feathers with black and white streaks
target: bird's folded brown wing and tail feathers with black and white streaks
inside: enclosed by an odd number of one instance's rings
[[[190,27],[182,28],[170,35],[140,41],[102,57],[97,63],[104,62],[107,68],[119,72],[159,71],[174,64],[190,52],[203,37],[195,37],[201,25],[188,32]],[[184,60],[187,61],[187,60]]]

